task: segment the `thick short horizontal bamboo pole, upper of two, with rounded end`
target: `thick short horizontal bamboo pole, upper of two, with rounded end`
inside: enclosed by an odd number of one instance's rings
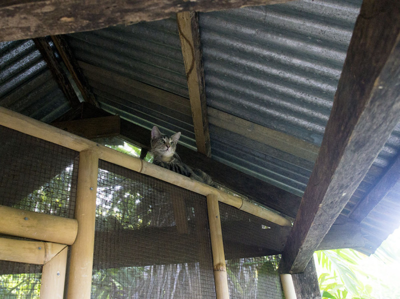
[[[60,244],[72,244],[77,221],[0,205],[0,233]]]

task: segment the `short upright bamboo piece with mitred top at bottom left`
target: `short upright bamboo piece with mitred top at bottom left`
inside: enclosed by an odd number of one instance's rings
[[[57,255],[43,265],[41,272],[40,299],[62,299],[64,296],[66,256],[65,246]]]

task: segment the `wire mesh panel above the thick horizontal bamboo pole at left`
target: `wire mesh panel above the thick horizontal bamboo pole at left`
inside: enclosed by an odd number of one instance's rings
[[[79,153],[0,126],[0,204],[73,218]]]

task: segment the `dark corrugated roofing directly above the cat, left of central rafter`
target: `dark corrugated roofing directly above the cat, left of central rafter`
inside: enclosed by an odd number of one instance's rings
[[[183,144],[195,149],[191,113],[149,103],[131,87],[132,80],[144,82],[186,98],[190,106],[176,19],[73,33],[67,40],[75,58],[84,62],[101,108],[149,129],[155,124],[165,133],[181,131]],[[90,71],[90,65],[104,72]],[[113,76],[125,83],[114,83]]]

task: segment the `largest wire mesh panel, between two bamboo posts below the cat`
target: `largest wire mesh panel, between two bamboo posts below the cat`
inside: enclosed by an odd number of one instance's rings
[[[214,298],[205,197],[99,162],[92,297]]]

